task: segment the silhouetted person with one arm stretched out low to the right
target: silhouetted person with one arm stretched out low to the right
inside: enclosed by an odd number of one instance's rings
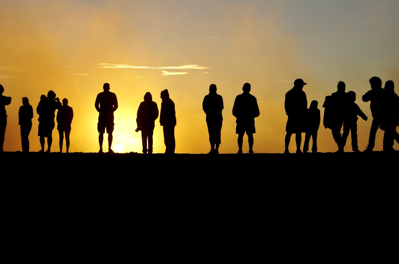
[[[361,111],[360,107],[355,103],[356,93],[348,91],[348,108],[344,118],[344,131],[342,132],[342,145],[346,145],[349,131],[352,139],[352,150],[360,152],[358,147],[358,116],[367,121],[367,116]]]

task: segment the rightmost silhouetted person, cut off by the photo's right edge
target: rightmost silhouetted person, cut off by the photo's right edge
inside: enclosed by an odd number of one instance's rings
[[[384,130],[383,149],[393,151],[393,143],[399,143],[399,134],[396,127],[399,125],[399,97],[395,93],[395,84],[392,80],[385,82],[384,114],[379,126]]]

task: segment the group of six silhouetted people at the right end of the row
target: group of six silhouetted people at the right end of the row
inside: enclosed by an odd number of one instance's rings
[[[370,101],[371,123],[369,143],[365,152],[372,152],[375,145],[375,134],[378,128],[384,131],[383,151],[394,151],[393,143],[396,140],[399,143],[399,134],[396,127],[399,125],[399,97],[395,93],[395,85],[392,80],[385,83],[385,89],[382,88],[382,81],[379,77],[371,77],[369,80],[371,90],[362,96],[364,102]],[[309,141],[312,137],[312,152],[317,152],[317,131],[320,126],[320,110],[317,108],[318,102],[312,101],[309,109],[307,108],[306,94],[302,88],[306,83],[302,79],[294,81],[294,87],[285,95],[285,111],[288,115],[286,124],[285,150],[289,153],[288,146],[292,134],[296,134],[296,153],[302,153],[300,149],[302,133],[305,134],[303,152],[309,151]],[[361,111],[355,103],[356,93],[354,91],[345,91],[346,85],[339,81],[337,91],[326,96],[323,103],[324,117],[323,125],[331,129],[334,141],[338,146],[338,153],[344,152],[346,141],[351,133],[352,151],[360,152],[358,147],[358,116],[367,121],[367,116]],[[341,134],[341,129],[343,132]]]

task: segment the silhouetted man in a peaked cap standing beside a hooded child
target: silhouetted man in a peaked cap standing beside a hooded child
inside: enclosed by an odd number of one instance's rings
[[[302,79],[294,81],[294,87],[285,94],[285,113],[288,115],[287,125],[285,131],[285,150],[284,153],[290,153],[288,146],[292,134],[295,134],[296,153],[302,153],[300,150],[300,143],[302,141],[302,132],[305,132],[305,117],[308,109],[308,101],[306,93],[302,91],[303,85],[306,83]]]

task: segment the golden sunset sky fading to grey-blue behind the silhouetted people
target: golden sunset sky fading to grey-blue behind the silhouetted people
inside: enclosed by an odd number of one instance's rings
[[[202,101],[215,83],[224,101],[219,152],[236,153],[231,110],[249,82],[261,112],[254,151],[282,153],[284,96],[297,78],[308,83],[308,106],[317,100],[322,118],[324,97],[336,91],[338,81],[356,92],[356,103],[369,117],[358,121],[363,151],[372,117],[361,95],[370,89],[369,78],[399,82],[398,14],[397,0],[2,0],[0,83],[3,95],[12,97],[4,151],[22,150],[22,97],[34,108],[30,150],[40,150],[36,107],[51,89],[73,107],[69,151],[97,152],[94,102],[108,82],[119,101],[113,143],[124,145],[124,152],[141,152],[141,135],[134,131],[138,105],[149,91],[160,108],[163,89],[176,105],[176,153],[209,152]],[[379,130],[375,150],[382,150],[382,136]],[[337,149],[321,124],[318,151]],[[345,150],[351,149],[348,139]],[[59,151],[56,129],[51,150]],[[154,153],[164,151],[157,119]]]

